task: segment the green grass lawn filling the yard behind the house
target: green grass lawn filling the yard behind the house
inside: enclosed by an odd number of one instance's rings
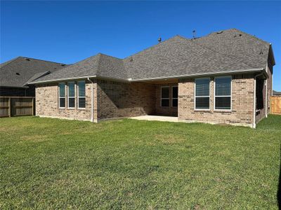
[[[0,209],[277,209],[281,116],[247,127],[0,119]]]

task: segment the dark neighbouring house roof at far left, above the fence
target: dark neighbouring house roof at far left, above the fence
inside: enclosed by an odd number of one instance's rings
[[[0,86],[25,87],[32,80],[65,66],[67,65],[40,59],[16,57],[0,65]]]

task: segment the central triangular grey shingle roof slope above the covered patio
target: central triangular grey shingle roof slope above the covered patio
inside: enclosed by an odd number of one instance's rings
[[[124,59],[124,66],[133,80],[254,69],[240,59],[209,50],[181,36]]]

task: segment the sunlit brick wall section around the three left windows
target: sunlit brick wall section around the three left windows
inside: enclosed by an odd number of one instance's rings
[[[93,90],[96,92],[96,83],[93,85]],[[91,83],[86,81],[86,108],[85,109],[68,109],[67,97],[65,99],[65,108],[58,108],[58,83],[40,84],[36,88],[36,115],[51,116],[58,118],[71,118],[75,120],[91,120]],[[67,93],[67,87],[66,87]],[[76,94],[77,95],[77,94]],[[94,96],[94,107],[96,100]],[[76,98],[77,104],[77,98]],[[76,105],[77,106],[77,105]],[[94,109],[95,110],[95,109]],[[94,113],[96,115],[96,113]]]

